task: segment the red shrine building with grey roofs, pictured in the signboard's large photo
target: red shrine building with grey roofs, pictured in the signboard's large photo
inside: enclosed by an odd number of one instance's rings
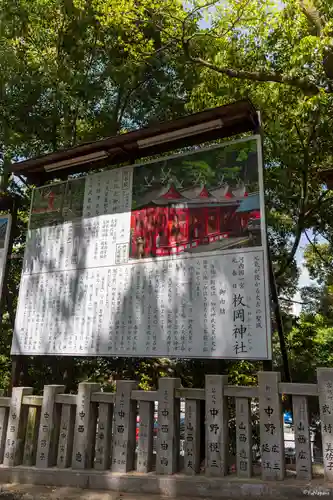
[[[177,189],[170,183],[152,188],[137,200],[131,214],[131,257],[178,254],[242,236],[253,212],[241,209],[248,196],[253,194],[248,195],[245,186]],[[260,214],[259,206],[257,210]]]

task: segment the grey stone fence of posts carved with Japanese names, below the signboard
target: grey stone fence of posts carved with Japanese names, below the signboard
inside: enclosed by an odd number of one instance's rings
[[[33,396],[31,388],[15,387],[11,398],[0,397],[0,481],[1,478],[28,481],[24,479],[27,470],[35,471],[37,482],[40,477],[41,482],[49,484],[57,484],[57,474],[66,470],[76,477],[79,473],[89,473],[91,477],[101,471],[110,477],[113,473],[131,471],[147,474],[153,470],[154,462],[158,476],[175,473],[182,473],[184,477],[226,476],[229,473],[228,398],[234,398],[236,409],[235,474],[243,479],[254,474],[251,401],[256,398],[261,478],[283,480],[282,394],[292,396],[296,476],[307,481],[312,478],[307,397],[319,397],[324,472],[326,479],[332,480],[333,369],[318,369],[317,380],[317,384],[281,383],[278,373],[260,372],[257,387],[241,387],[228,385],[227,376],[207,375],[205,389],[184,389],[177,378],[161,378],[157,391],[137,390],[135,382],[123,380],[117,382],[115,393],[101,392],[95,383],[82,383],[77,395],[63,394],[64,387],[51,385],[45,386],[43,396]],[[185,400],[182,470],[181,399]],[[201,400],[205,401],[206,415],[204,472],[200,472]],[[153,446],[155,402],[158,403],[156,456]],[[47,476],[48,471],[52,471],[52,476]],[[62,484],[65,483],[66,480]]]

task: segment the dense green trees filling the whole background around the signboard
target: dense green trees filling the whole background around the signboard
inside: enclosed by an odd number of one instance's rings
[[[10,345],[31,188],[11,162],[111,136],[233,100],[261,112],[269,244],[283,309],[292,378],[333,366],[333,195],[319,172],[333,155],[333,6],[330,0],[0,0],[2,197],[15,238],[4,289],[0,387],[10,383]],[[314,286],[301,290],[295,254]],[[320,243],[318,243],[320,241]],[[324,243],[323,243],[324,242]],[[274,367],[281,369],[274,335]],[[82,380],[112,387],[203,373],[251,384],[260,364],[126,359],[27,359],[21,378],[41,390]]]

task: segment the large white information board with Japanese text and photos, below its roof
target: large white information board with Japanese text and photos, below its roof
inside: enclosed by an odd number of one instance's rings
[[[34,191],[12,354],[270,359],[259,136]]]

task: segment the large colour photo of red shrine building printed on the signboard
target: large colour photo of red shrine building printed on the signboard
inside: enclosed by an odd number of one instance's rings
[[[130,258],[261,245],[256,141],[135,169]]]

